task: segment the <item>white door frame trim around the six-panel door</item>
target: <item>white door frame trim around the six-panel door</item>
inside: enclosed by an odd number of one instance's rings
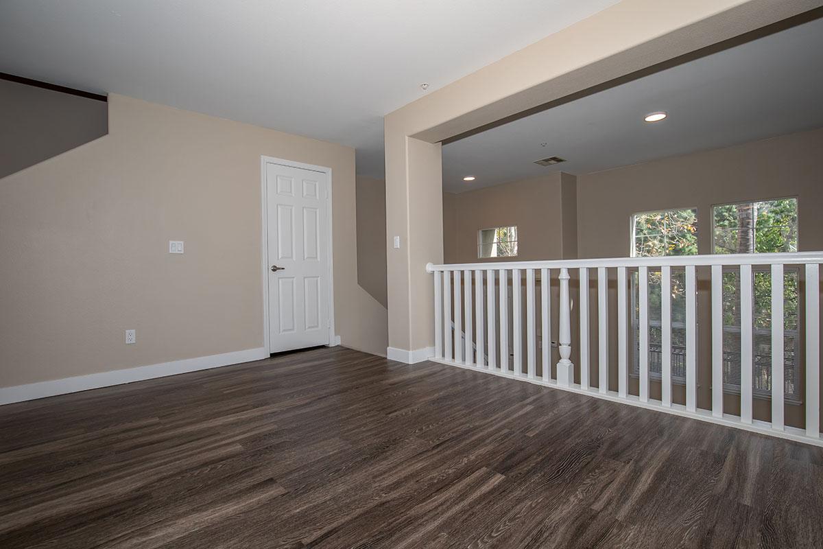
[[[272,352],[272,342],[269,333],[269,306],[271,302],[269,301],[268,295],[268,188],[267,188],[267,181],[266,181],[266,165],[267,164],[277,164],[283,165],[289,168],[299,168],[300,170],[311,170],[316,171],[321,174],[326,174],[326,181],[327,181],[327,188],[328,193],[326,193],[326,211],[328,212],[327,215],[327,238],[328,238],[328,247],[326,254],[328,255],[328,347],[335,347],[340,345],[340,338],[335,335],[334,331],[334,254],[333,254],[333,242],[332,237],[334,235],[334,231],[332,230],[332,169],[314,165],[314,164],[305,164],[303,162],[295,162],[295,161],[288,161],[282,158],[275,158],[274,156],[260,156],[260,196],[262,198],[261,201],[261,212],[262,212],[262,247],[260,249],[260,267],[263,272],[263,347],[266,349],[266,352],[271,354]]]

